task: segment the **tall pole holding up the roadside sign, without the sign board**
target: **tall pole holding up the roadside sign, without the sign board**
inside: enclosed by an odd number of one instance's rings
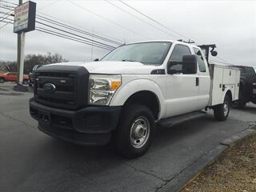
[[[22,0],[18,1],[18,5],[22,5]],[[18,68],[18,79],[17,85],[23,82],[23,70],[24,70],[24,48],[25,48],[25,32],[18,34],[17,43],[17,68]]]

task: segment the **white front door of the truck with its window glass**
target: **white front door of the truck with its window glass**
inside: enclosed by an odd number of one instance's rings
[[[170,61],[182,62],[183,55],[191,54],[189,46],[177,44],[170,55]],[[182,65],[175,65],[179,70]],[[199,109],[199,83],[197,74],[168,74],[166,78],[166,117],[185,114]]]

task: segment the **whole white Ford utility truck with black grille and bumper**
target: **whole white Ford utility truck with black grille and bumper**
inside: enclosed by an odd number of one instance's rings
[[[119,154],[135,158],[149,149],[158,126],[202,116],[208,108],[226,120],[239,78],[236,68],[208,66],[198,46],[136,42],[98,62],[40,67],[30,114],[55,138],[104,145],[112,137]]]

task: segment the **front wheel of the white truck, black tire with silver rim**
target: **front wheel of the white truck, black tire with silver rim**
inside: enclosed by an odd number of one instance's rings
[[[132,104],[122,111],[114,141],[118,154],[137,158],[150,148],[154,134],[154,115],[142,105]]]

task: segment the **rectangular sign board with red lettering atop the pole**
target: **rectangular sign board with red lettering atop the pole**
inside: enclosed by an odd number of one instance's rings
[[[29,32],[35,27],[35,2],[25,2],[14,9],[14,33]]]

